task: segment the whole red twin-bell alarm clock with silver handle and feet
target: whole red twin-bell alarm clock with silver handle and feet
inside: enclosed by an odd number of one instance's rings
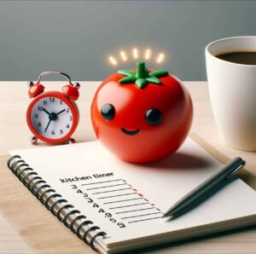
[[[41,79],[49,74],[64,76],[69,84],[62,87],[62,92],[44,92]],[[73,143],[71,136],[79,124],[79,108],[74,101],[79,99],[80,84],[73,84],[62,72],[43,72],[36,84],[30,81],[28,86],[28,96],[34,98],[26,112],[26,122],[33,134],[32,144],[38,139],[50,144]]]

